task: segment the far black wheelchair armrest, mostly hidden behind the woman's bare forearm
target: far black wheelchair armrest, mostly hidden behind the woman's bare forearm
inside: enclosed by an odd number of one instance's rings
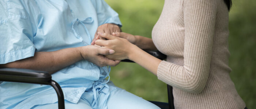
[[[144,50],[145,52],[147,52],[148,54],[156,57],[156,58],[159,58],[160,60],[164,60],[166,59],[166,55],[159,52],[158,50]],[[122,60],[122,62],[133,62],[131,60]]]

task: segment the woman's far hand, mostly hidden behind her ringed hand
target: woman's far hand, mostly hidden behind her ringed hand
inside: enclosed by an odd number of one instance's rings
[[[113,32],[112,35],[127,39],[130,43],[132,43],[134,45],[136,45],[136,43],[138,41],[137,37],[139,37],[139,36],[134,36],[134,35],[131,35],[129,33],[124,33],[124,32]]]

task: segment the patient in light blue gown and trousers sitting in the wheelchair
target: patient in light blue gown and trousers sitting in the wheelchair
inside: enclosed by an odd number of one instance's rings
[[[120,61],[91,43],[121,27],[105,1],[1,0],[0,13],[0,67],[50,72],[66,109],[159,109],[105,80]],[[48,85],[1,82],[0,108],[56,109],[57,96]]]

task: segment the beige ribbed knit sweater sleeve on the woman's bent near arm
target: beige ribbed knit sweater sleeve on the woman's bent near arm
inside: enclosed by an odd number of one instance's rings
[[[184,66],[162,61],[159,80],[191,93],[200,93],[207,82],[213,46],[217,3],[184,0]]]

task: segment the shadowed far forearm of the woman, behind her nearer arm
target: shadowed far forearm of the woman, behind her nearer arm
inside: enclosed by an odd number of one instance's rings
[[[143,37],[143,36],[135,36],[135,37],[136,37],[135,45],[138,46],[140,49],[157,50],[152,39]]]

